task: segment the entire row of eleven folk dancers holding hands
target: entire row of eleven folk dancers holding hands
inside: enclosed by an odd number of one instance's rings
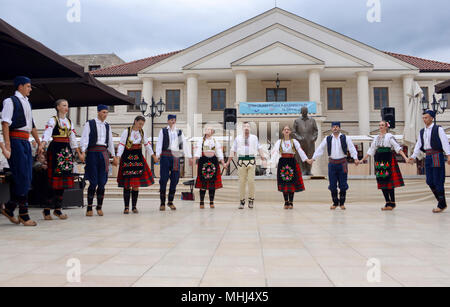
[[[436,114],[426,111],[423,121],[426,128],[420,132],[413,155],[408,158],[394,136],[389,133],[389,123],[381,121],[380,133],[373,140],[365,157],[358,160],[358,153],[349,137],[341,133],[341,123],[332,123],[332,134],[324,138],[313,157],[309,158],[301,148],[300,143],[292,139],[289,126],[283,128],[283,137],[278,140],[267,161],[258,137],[250,133],[250,124],[243,124],[243,133],[238,135],[231,147],[230,156],[225,161],[222,146],[214,138],[214,129],[207,127],[201,140],[197,142],[194,156],[183,131],[176,127],[176,115],[168,116],[168,126],[163,128],[158,136],[156,152],[153,152],[146,133],[143,130],[145,117],[137,116],[133,125],[125,129],[121,135],[117,153],[114,149],[110,125],[106,122],[108,108],[105,105],[97,107],[97,117],[86,122],[77,144],[73,125],[67,117],[69,103],[60,99],[55,103],[56,116],[51,117],[45,127],[42,140],[39,138],[34,125],[31,104],[28,96],[31,93],[31,80],[27,77],[17,77],[16,92],[3,102],[2,130],[5,144],[2,150],[8,158],[13,182],[11,200],[1,213],[12,223],[25,226],[36,226],[28,214],[27,194],[31,187],[32,155],[29,143],[30,134],[38,144],[38,154],[46,152],[48,169],[47,175],[51,187],[51,202],[44,208],[45,220],[52,220],[53,215],[65,220],[68,218],[62,212],[64,190],[74,186],[74,152],[85,165],[85,179],[89,181],[87,191],[86,216],[94,215],[94,198],[97,198],[95,210],[97,215],[103,216],[103,200],[105,185],[108,181],[110,157],[112,164],[119,167],[117,183],[123,188],[124,214],[139,213],[137,202],[139,188],[148,187],[155,183],[154,176],[143,155],[143,149],[155,163],[160,163],[160,210],[166,210],[166,204],[171,210],[176,210],[174,197],[180,178],[182,159],[188,159],[189,164],[197,164],[197,178],[195,187],[200,190],[200,208],[205,208],[206,192],[209,192],[209,206],[214,208],[216,190],[223,187],[221,167],[228,168],[231,161],[238,160],[239,173],[239,209],[244,209],[246,201],[248,207],[254,208],[255,202],[255,171],[256,158],[259,155],[263,163],[277,166],[277,188],[284,197],[284,209],[293,209],[294,195],[305,190],[302,172],[296,155],[303,162],[313,164],[325,152],[329,157],[328,179],[331,192],[331,210],[338,207],[345,210],[348,186],[347,153],[359,165],[367,161],[369,156],[375,159],[375,175],[378,189],[383,192],[386,204],[383,211],[396,208],[395,188],[404,186],[404,181],[396,153],[408,163],[421,157],[425,153],[425,169],[427,184],[438,201],[435,213],[441,213],[447,208],[445,199],[445,157],[450,164],[450,145],[442,127],[433,124]],[[196,161],[198,160],[198,163]],[[169,190],[167,185],[170,180]],[[248,188],[248,196],[247,196]],[[166,202],[167,200],[167,202]],[[131,201],[131,211],[130,211]],[[50,205],[51,204],[51,205]],[[14,211],[19,207],[18,218]]]

